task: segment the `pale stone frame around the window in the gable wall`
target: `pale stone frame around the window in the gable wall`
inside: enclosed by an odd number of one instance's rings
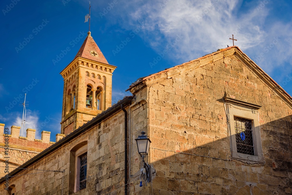
[[[259,124],[259,113],[258,109],[261,106],[243,102],[229,97],[224,97],[225,108],[227,114],[227,123],[230,133],[230,149],[231,159],[236,159],[248,164],[264,164],[263,149],[260,137],[260,124]],[[255,155],[243,154],[237,152],[236,138],[235,138],[235,126],[234,116],[244,118],[252,121],[252,132],[253,132],[253,145]]]

